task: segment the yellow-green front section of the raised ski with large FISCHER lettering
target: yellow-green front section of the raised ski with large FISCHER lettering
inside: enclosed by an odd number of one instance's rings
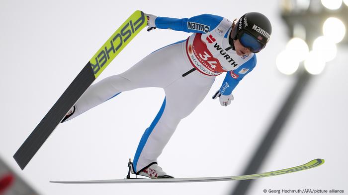
[[[100,69],[108,62],[112,60],[117,54],[118,50],[122,49],[124,44],[127,44],[129,38],[134,34],[145,22],[144,13],[141,12],[141,16],[137,19],[130,19],[126,24],[120,27],[111,38],[103,45],[101,50],[92,57],[89,61],[93,69],[94,75],[96,75]],[[95,62],[92,62],[92,60]],[[93,60],[93,61],[94,61]]]

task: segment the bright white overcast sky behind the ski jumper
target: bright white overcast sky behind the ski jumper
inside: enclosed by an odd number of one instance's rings
[[[158,16],[192,17],[211,13],[231,20],[259,11],[271,21],[269,44],[257,67],[220,106],[211,96],[183,119],[160,156],[159,165],[176,178],[242,173],[295,77],[281,75],[275,57],[288,40],[277,0],[1,0],[0,1],[0,156],[43,195],[223,195],[236,182],[186,184],[62,185],[49,180],[122,179],[144,130],[164,99],[162,89],[122,93],[72,121],[59,125],[24,171],[12,155],[65,91],[90,57],[135,10]],[[121,73],[137,61],[190,34],[142,31],[97,79]],[[250,193],[263,189],[337,189],[348,191],[346,176],[348,66],[347,48],[314,77],[287,121],[261,171],[272,171],[324,158],[316,169],[260,179]]]

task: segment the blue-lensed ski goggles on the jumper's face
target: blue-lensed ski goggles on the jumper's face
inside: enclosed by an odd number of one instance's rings
[[[241,31],[238,33],[239,42],[243,47],[249,48],[251,52],[257,53],[261,51],[266,45],[261,43],[260,40],[249,34],[247,31]]]

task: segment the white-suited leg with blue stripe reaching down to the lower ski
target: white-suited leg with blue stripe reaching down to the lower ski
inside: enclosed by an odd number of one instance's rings
[[[191,76],[189,78],[189,76]],[[166,100],[154,122],[144,133],[134,157],[135,171],[139,172],[163,151],[180,120],[189,115],[209,92],[214,78],[189,75],[165,88]],[[195,79],[195,81],[191,81]]]

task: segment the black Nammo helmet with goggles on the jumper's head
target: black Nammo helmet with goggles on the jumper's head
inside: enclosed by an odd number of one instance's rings
[[[244,14],[231,32],[231,38],[239,39],[241,44],[254,53],[263,49],[269,41],[272,26],[266,16],[259,12]]]

